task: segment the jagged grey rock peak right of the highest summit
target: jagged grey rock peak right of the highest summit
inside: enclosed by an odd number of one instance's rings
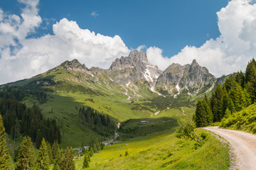
[[[187,89],[188,93],[197,93],[208,84],[215,81],[213,74],[210,74],[206,67],[201,67],[196,60],[191,64],[181,66],[181,64],[171,64],[156,81],[156,86],[168,85],[169,88],[176,89],[178,94],[182,89]]]

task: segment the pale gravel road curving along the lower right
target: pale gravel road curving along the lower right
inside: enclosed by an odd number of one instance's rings
[[[238,169],[256,169],[256,135],[237,130],[225,130],[218,127],[205,128],[228,140],[236,154]]]

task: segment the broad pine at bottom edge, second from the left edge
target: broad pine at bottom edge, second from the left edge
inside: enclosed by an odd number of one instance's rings
[[[21,146],[18,149],[18,164],[16,165],[16,169],[33,169],[34,165],[34,149],[31,138],[26,136],[23,138],[21,142]]]

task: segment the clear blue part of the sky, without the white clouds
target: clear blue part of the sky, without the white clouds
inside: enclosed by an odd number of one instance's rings
[[[217,38],[220,33],[216,12],[227,4],[227,0],[40,1],[39,15],[45,22],[49,19],[50,25],[33,36],[53,34],[53,23],[68,18],[76,21],[80,28],[102,35],[119,35],[129,48],[156,46],[171,57],[186,45],[200,47],[206,40]],[[5,0],[0,6],[4,11],[18,15],[23,4]],[[98,16],[91,15],[94,11]]]

